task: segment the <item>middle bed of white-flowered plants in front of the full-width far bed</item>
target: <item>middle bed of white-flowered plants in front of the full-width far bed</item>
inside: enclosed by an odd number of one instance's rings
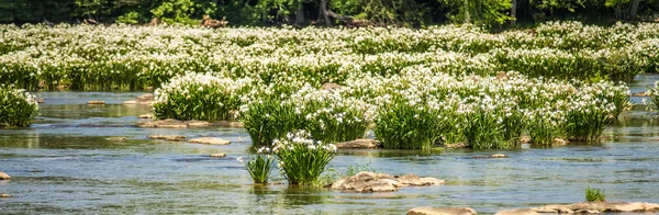
[[[261,84],[250,78],[187,73],[156,90],[154,115],[204,121],[232,115],[256,145],[295,129],[326,143],[365,138],[373,131],[384,148],[465,143],[487,149],[520,147],[524,135],[537,145],[552,145],[557,138],[596,143],[630,108],[624,83],[529,78],[514,71],[453,76],[415,66],[392,77],[349,73],[344,84],[314,87],[300,77]]]

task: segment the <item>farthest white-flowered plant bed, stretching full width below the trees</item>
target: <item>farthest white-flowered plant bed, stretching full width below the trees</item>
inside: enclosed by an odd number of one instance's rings
[[[552,22],[491,34],[470,25],[292,29],[0,25],[0,83],[48,90],[142,90],[177,75],[212,72],[264,84],[299,77],[343,84],[422,65],[434,72],[630,80],[655,72],[659,24],[601,27]]]

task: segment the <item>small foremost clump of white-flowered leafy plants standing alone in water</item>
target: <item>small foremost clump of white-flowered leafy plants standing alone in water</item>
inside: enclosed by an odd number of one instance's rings
[[[334,158],[336,146],[314,140],[305,131],[295,131],[275,140],[272,151],[290,184],[313,185]]]

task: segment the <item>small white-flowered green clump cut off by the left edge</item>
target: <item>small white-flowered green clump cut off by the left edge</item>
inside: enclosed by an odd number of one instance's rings
[[[38,114],[34,95],[12,86],[0,86],[0,127],[27,126]]]

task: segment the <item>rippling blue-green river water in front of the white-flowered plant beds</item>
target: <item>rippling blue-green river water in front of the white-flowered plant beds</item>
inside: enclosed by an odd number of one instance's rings
[[[656,76],[639,77],[645,91]],[[242,128],[137,128],[149,108],[122,105],[142,93],[37,92],[45,99],[29,128],[0,129],[0,214],[208,213],[404,214],[416,206],[470,206],[479,214],[584,201],[587,186],[607,201],[659,202],[659,116],[637,105],[601,144],[515,150],[339,150],[331,167],[366,165],[416,173],[445,185],[393,193],[340,193],[287,185],[255,186],[238,158],[253,154]],[[87,105],[103,100],[107,105]],[[633,98],[635,103],[640,98]],[[214,136],[227,146],[153,140],[152,134]],[[127,137],[124,142],[108,137]],[[225,158],[210,154],[226,152]],[[505,154],[506,159],[489,159]],[[284,181],[273,172],[271,181]],[[286,183],[284,183],[286,184]]]

